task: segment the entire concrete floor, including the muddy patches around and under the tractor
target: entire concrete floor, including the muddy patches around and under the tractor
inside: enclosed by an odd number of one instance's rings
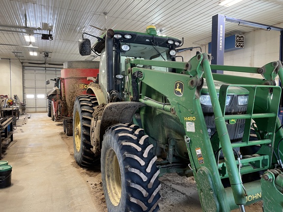
[[[32,113],[22,125],[24,117],[4,154],[13,166],[12,185],[0,188],[0,212],[107,212],[100,170],[76,164],[62,124]],[[167,174],[160,181],[160,212],[202,212],[193,178]],[[246,211],[262,211],[261,203]]]

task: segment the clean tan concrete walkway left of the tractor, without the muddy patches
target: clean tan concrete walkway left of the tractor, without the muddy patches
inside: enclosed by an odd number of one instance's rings
[[[17,127],[3,158],[13,169],[11,186],[0,188],[0,212],[99,211],[60,133],[47,113]]]

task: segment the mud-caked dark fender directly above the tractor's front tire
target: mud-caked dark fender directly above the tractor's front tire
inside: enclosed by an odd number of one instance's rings
[[[97,110],[104,107],[102,108],[103,113],[101,116],[92,118],[90,129],[90,139],[94,154],[100,155],[105,131],[114,124],[132,123],[136,110],[142,106],[145,106],[145,104],[140,102],[117,102],[99,105]],[[96,112],[93,114],[95,113]],[[99,111],[97,113],[99,113]]]

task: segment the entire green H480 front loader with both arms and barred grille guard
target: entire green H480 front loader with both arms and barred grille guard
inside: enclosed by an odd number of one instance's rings
[[[157,70],[136,67],[137,64],[168,67],[176,73],[162,72]],[[138,96],[135,101],[140,101],[148,107],[164,110],[176,115],[184,127],[184,141],[186,142],[190,163],[198,185],[198,193],[204,211],[226,212],[243,205],[252,204],[261,199],[260,182],[255,181],[243,186],[241,175],[273,168],[272,149],[276,147],[279,139],[282,139],[282,130],[276,134],[277,109],[281,89],[275,86],[274,80],[277,75],[283,79],[283,69],[280,62],[269,63],[262,68],[216,66],[209,64],[209,56],[200,53],[188,63],[172,61],[152,61],[132,59],[126,61],[127,82],[129,99],[131,95]],[[212,74],[211,69],[257,73],[263,79],[243,78],[229,75]],[[135,77],[135,79],[133,79]],[[219,147],[224,154],[224,162],[216,163],[212,143],[207,133],[204,115],[199,101],[202,87],[202,78],[206,79],[209,96],[211,98],[215,123],[217,128]],[[232,85],[222,86],[218,94],[214,84],[214,78]],[[241,85],[233,84],[240,81]],[[134,83],[136,88],[131,90]],[[148,98],[142,93],[141,87],[145,84],[160,95],[165,96],[170,104],[163,104]],[[226,115],[225,99],[230,86],[243,87],[249,91],[249,103],[247,114]],[[126,95],[126,96],[127,96]],[[149,95],[149,94],[147,94]],[[219,95],[219,100],[218,100]],[[127,99],[127,97],[126,97]],[[264,103],[261,101],[264,100]],[[246,119],[243,140],[240,143],[231,143],[226,120]],[[254,143],[249,141],[250,124],[255,120],[262,137]],[[268,123],[267,125],[265,123]],[[266,128],[266,129],[265,129]],[[277,124],[278,128],[278,124]],[[214,143],[215,145],[215,143]],[[249,159],[236,160],[233,148],[260,145],[259,155]],[[282,149],[282,148],[281,148]],[[282,155],[282,150],[279,151]],[[243,168],[238,166],[244,165]],[[251,166],[255,164],[255,166]],[[224,188],[222,177],[228,177],[231,187]],[[256,198],[254,198],[254,196]],[[250,198],[253,197],[253,198]],[[234,199],[233,201],[231,199]]]

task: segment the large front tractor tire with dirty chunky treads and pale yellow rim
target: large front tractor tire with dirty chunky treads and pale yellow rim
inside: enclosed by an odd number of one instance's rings
[[[109,212],[159,210],[160,170],[143,129],[132,124],[110,127],[102,142],[101,175]]]

